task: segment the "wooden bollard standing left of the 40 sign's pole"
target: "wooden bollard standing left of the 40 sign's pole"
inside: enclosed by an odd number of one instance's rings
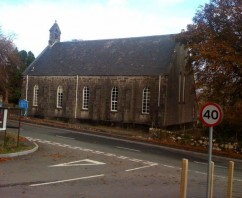
[[[188,160],[182,159],[182,172],[181,172],[181,198],[187,197],[187,173],[188,173]]]

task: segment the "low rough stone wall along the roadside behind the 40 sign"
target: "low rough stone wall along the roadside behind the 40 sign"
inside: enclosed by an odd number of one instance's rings
[[[173,132],[163,129],[150,128],[150,137],[153,139],[159,139],[167,142],[177,143],[177,144],[187,144],[194,147],[207,148],[209,144],[208,137],[194,137],[188,133]],[[224,142],[219,143],[216,139],[212,140],[213,150],[216,151],[230,151],[242,154],[242,145],[238,142]]]

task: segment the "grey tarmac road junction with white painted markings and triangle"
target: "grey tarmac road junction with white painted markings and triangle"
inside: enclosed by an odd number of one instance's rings
[[[180,197],[181,160],[189,160],[188,197],[205,197],[207,156],[192,152],[22,124],[37,152],[0,164],[0,197]],[[226,158],[215,162],[215,197],[226,197]],[[233,197],[242,197],[235,161]]]

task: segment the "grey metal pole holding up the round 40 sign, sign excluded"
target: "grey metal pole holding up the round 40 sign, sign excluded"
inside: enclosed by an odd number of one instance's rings
[[[213,127],[209,127],[209,149],[208,149],[208,174],[207,174],[207,198],[210,198],[211,191],[211,162],[213,148]]]

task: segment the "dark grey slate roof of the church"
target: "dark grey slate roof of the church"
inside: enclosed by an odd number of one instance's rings
[[[167,73],[172,35],[57,42],[25,70],[32,76],[142,76]]]

